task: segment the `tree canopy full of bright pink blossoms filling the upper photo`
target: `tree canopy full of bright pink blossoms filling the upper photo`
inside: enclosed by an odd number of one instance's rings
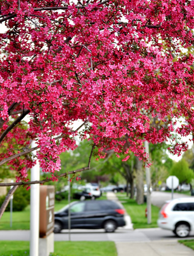
[[[75,136],[92,139],[99,157],[126,160],[129,151],[146,158],[144,140],[172,138],[181,116],[176,132],[193,133],[193,56],[182,54],[194,44],[193,17],[193,0],[2,0],[0,165],[27,184],[38,149],[55,180]]]

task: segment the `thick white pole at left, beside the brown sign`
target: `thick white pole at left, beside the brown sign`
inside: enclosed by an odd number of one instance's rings
[[[32,147],[37,146],[35,141]],[[35,153],[36,154],[36,151]],[[31,169],[31,181],[40,180],[40,166],[36,160],[35,166]],[[39,243],[39,207],[40,207],[40,184],[30,186],[30,256],[38,256]]]

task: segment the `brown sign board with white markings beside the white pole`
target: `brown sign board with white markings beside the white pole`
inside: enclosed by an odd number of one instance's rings
[[[55,187],[40,186],[40,237],[46,237],[54,230]]]

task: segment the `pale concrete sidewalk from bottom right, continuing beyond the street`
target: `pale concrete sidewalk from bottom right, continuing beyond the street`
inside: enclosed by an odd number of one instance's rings
[[[119,202],[114,192],[107,192],[107,199]],[[120,203],[120,202],[119,202]],[[121,203],[120,203],[121,204]],[[133,229],[130,216],[126,213],[125,228]],[[115,242],[118,256],[194,256],[194,251],[176,240],[150,242]]]

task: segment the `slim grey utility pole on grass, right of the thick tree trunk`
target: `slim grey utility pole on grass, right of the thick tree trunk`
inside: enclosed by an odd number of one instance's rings
[[[148,155],[149,160],[149,143],[148,141],[144,142],[145,152]],[[149,166],[145,167],[146,170],[146,183],[147,183],[147,224],[152,222],[152,208],[151,208],[151,193],[150,193],[150,168]]]

